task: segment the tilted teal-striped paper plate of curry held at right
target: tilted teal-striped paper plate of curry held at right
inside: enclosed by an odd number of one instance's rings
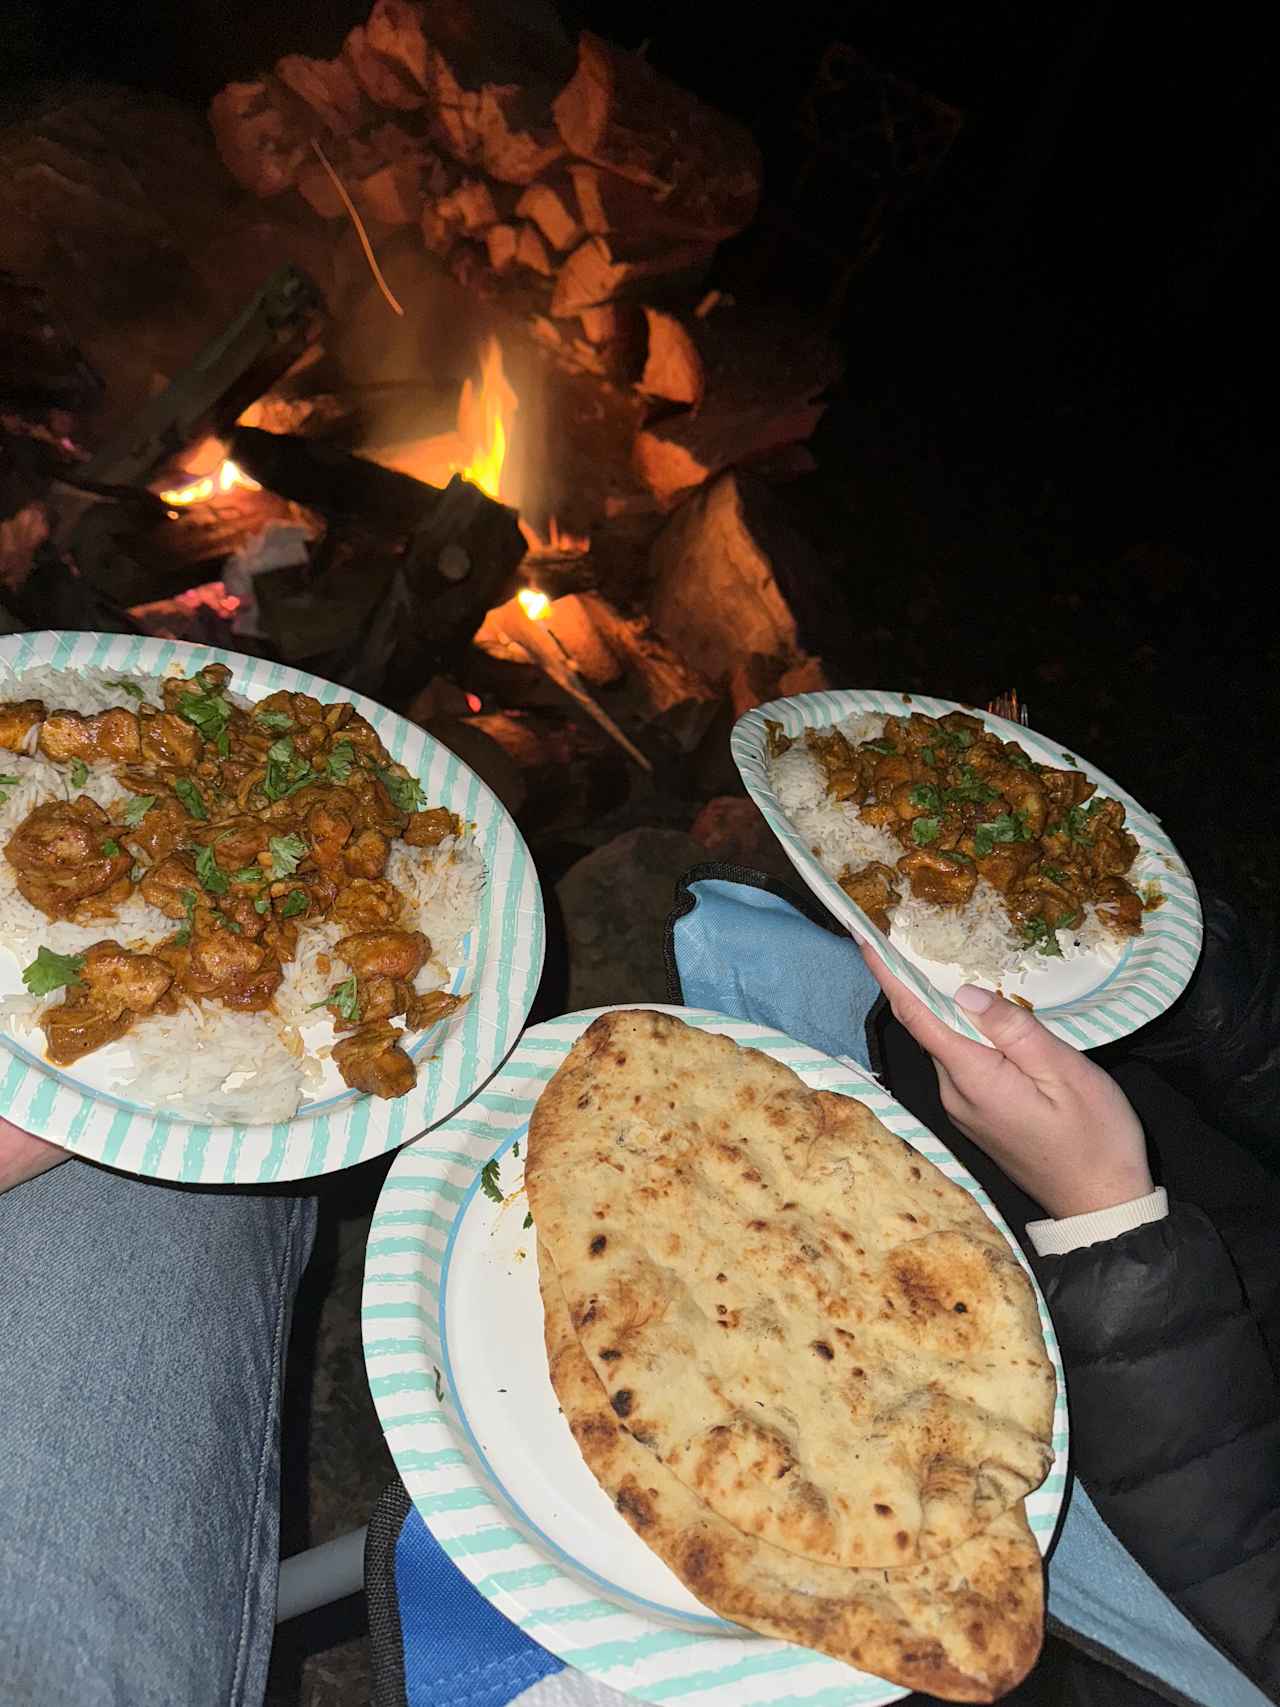
[[[1002,741],[1017,741],[1033,758],[1058,770],[1070,763],[1096,782],[1103,794],[1123,801],[1126,828],[1138,842],[1138,859],[1130,877],[1135,884],[1154,883],[1164,901],[1154,912],[1143,913],[1142,935],[1126,941],[1118,958],[1099,953],[1080,954],[1068,961],[1046,959],[1033,971],[1005,976],[1000,985],[1005,995],[1015,993],[1026,999],[1050,1031],[1080,1050],[1092,1050],[1145,1026],[1183,993],[1200,959],[1203,939],[1200,896],[1191,872],[1161,830],[1159,819],[1104,772],[1079,754],[1065,753],[1058,741],[1034,734],[1005,717],[990,712],[975,714],[971,705],[934,700],[923,693],[877,690],[797,693],[794,698],[771,700],[739,717],[729,743],[737,772],[782,842],[787,859],[828,912],[852,935],[870,942],[939,1019],[964,1036],[986,1041],[952,1002],[952,995],[966,982],[963,970],[925,959],[898,937],[877,930],[787,818],[768,777],[766,724],[782,724],[785,734],[799,736],[804,729],[828,729],[862,712],[879,712],[886,717],[905,717],[910,712],[922,712],[927,717],[942,717],[944,712],[980,715]]]

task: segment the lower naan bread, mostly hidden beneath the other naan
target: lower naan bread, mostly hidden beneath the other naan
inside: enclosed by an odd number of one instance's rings
[[[614,1417],[538,1248],[551,1383],[579,1449],[618,1511],[712,1611],[945,1700],[990,1702],[1039,1654],[1044,1577],[1021,1506],[942,1558],[843,1570],[742,1535]]]

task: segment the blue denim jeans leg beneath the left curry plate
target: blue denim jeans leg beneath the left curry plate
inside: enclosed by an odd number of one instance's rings
[[[311,1198],[70,1161],[0,1195],[0,1702],[259,1702]]]

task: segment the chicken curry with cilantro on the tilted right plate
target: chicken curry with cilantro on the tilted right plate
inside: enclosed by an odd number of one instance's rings
[[[773,751],[790,739],[770,725]],[[893,865],[847,865],[841,889],[879,930],[887,930],[903,888],[935,906],[964,906],[978,881],[998,893],[1022,941],[1060,954],[1056,932],[1096,906],[1118,935],[1142,930],[1143,903],[1126,872],[1138,843],[1120,801],[1097,795],[1080,770],[1034,761],[1000,741],[978,717],[886,719],[882,734],[857,746],[838,729],[807,729],[829,799],[903,847]]]

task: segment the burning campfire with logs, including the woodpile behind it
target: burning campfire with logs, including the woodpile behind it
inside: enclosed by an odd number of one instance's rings
[[[97,626],[265,652],[556,782],[579,751],[688,770],[823,685],[777,486],[838,357],[717,283],[759,195],[741,126],[596,36],[442,19],[375,0],[335,60],[215,97],[259,217],[341,266],[280,266],[92,454],[67,439],[32,550]]]

